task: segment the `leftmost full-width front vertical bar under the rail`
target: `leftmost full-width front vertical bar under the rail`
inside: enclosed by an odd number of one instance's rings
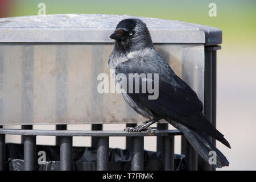
[[[34,171],[36,167],[36,136],[24,135],[24,171]]]

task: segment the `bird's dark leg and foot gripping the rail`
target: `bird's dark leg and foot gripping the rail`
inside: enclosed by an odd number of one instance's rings
[[[138,125],[135,127],[126,127],[124,130],[127,132],[141,132],[141,131],[154,132],[155,130],[149,126],[159,120],[160,120],[160,118],[153,118],[153,119],[150,119],[148,121],[141,123],[141,125]]]

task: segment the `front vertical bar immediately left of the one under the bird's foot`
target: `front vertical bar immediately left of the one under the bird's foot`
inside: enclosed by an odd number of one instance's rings
[[[97,137],[97,171],[109,169],[109,137]]]

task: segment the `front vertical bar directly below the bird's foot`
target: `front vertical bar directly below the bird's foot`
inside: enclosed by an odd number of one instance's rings
[[[133,158],[131,159],[131,171],[144,170],[144,138],[133,137]]]

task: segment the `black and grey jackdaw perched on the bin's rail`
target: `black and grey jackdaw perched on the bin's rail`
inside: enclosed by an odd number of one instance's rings
[[[225,156],[210,142],[207,135],[219,140],[230,148],[224,135],[215,129],[201,112],[203,104],[197,94],[181,78],[175,75],[170,65],[155,50],[150,32],[145,23],[140,19],[123,19],[117,24],[111,39],[115,40],[114,49],[109,56],[108,67],[115,82],[123,89],[129,90],[129,74],[158,73],[159,96],[150,100],[149,92],[135,93],[122,92],[122,96],[137,113],[149,120],[137,127],[126,128],[129,132],[146,130],[152,123],[165,119],[168,123],[180,130],[197,153],[208,162],[210,151],[215,151],[217,164],[214,167],[228,166]],[[126,76],[117,78],[119,73]],[[134,81],[134,79],[133,79]],[[140,90],[143,81],[156,81],[154,78],[141,78]],[[134,86],[133,86],[134,91]]]

